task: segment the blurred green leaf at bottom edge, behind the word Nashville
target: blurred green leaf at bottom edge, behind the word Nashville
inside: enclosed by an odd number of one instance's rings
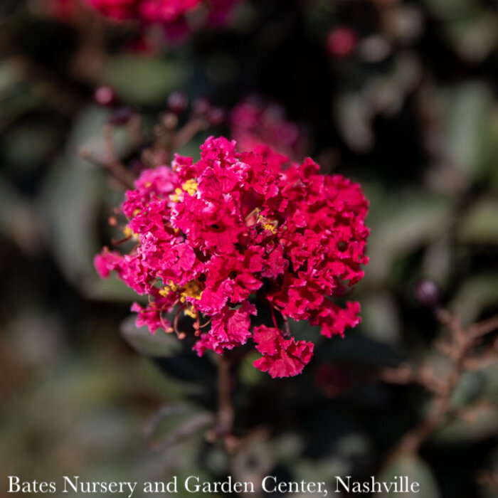
[[[378,480],[381,482],[393,482],[396,477],[408,477],[408,482],[418,482],[418,492],[403,493],[403,497],[417,498],[439,498],[438,484],[430,467],[418,455],[398,455],[386,467],[381,470]],[[383,492],[380,497],[391,497],[392,493]]]

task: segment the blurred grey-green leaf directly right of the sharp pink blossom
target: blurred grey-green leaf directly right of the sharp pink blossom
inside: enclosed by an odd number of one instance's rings
[[[422,192],[404,192],[386,200],[369,218],[370,263],[365,280],[381,282],[393,261],[436,238],[450,220],[448,198]]]

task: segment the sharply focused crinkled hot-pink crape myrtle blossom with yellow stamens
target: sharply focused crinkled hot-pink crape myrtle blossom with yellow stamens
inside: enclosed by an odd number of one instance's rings
[[[359,303],[339,307],[333,297],[345,281],[361,280],[368,261],[359,184],[318,170],[309,158],[293,163],[264,145],[239,153],[235,141],[210,137],[199,161],[176,155],[171,167],[142,171],[122,204],[135,246],[124,255],[104,248],[97,271],[115,270],[147,295],[149,304],[132,311],[152,334],[174,332],[176,320],[166,317],[184,312],[194,319],[199,356],[252,339],[262,355],[256,368],[295,376],[314,344],[282,331],[275,317],[343,335],[360,322]],[[255,302],[270,307],[270,327],[251,330]]]

